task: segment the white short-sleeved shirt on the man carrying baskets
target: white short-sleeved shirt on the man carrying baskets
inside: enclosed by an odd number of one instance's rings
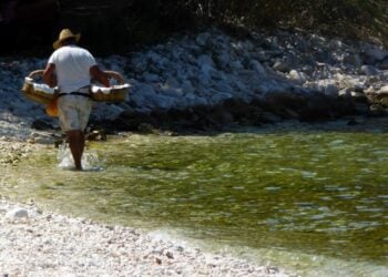
[[[90,68],[95,65],[93,55],[76,45],[55,50],[49,63],[55,65],[58,86],[61,93],[70,93],[90,84]]]

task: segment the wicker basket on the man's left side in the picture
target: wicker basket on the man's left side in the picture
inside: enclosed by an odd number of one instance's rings
[[[42,74],[43,70],[32,71],[28,78],[24,79],[24,84],[21,91],[29,100],[48,105],[57,98],[58,92],[44,84],[37,84],[33,82],[34,78]]]

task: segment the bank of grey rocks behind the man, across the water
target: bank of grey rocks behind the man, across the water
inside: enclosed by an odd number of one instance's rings
[[[144,125],[208,131],[387,114],[388,52],[363,42],[284,31],[237,39],[210,30],[98,61],[133,85],[125,102],[95,105],[91,126],[111,131]],[[21,138],[37,129],[58,130],[41,105],[19,93],[24,76],[45,62],[0,59],[2,135]],[[14,123],[23,126],[22,135],[13,132]]]

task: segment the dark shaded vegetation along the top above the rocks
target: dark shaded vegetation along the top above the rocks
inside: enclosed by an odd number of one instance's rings
[[[43,0],[41,0],[43,1]],[[54,1],[54,0],[47,0]],[[38,2],[38,0],[37,0]],[[12,48],[38,45],[47,53],[58,30],[82,32],[83,43],[98,54],[121,53],[136,45],[163,41],[177,32],[208,25],[249,29],[300,29],[325,35],[368,40],[388,45],[386,0],[59,0],[52,30],[22,39]],[[1,29],[0,29],[1,30]],[[6,29],[4,29],[6,30]],[[10,30],[7,27],[7,30]],[[23,32],[25,28],[20,28]],[[38,30],[42,30],[39,28]],[[241,29],[239,29],[241,30]],[[23,38],[23,33],[13,38]],[[28,31],[30,34],[31,31]],[[44,40],[43,40],[44,39]],[[48,45],[49,44],[49,45]],[[42,49],[44,48],[44,49]],[[43,50],[43,51],[42,51]]]

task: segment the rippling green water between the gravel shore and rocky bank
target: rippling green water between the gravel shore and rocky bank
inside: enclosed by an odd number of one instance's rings
[[[127,135],[91,143],[102,171],[57,150],[7,167],[0,193],[305,275],[388,276],[388,135],[306,127]],[[370,274],[370,275],[369,275]]]

